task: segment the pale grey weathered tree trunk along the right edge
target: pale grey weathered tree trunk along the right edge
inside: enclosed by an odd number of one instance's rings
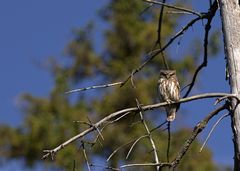
[[[240,94],[240,4],[239,0],[219,0],[230,91]],[[232,101],[232,107],[237,101]],[[232,112],[234,170],[240,171],[240,105]]]

